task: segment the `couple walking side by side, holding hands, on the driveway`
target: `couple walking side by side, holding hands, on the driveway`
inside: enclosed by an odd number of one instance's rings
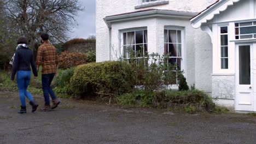
[[[11,70],[11,80],[14,80],[16,75],[17,85],[19,88],[21,110],[19,113],[26,113],[26,100],[27,97],[30,100],[32,106],[32,112],[37,110],[38,104],[34,100],[31,93],[27,92],[27,87],[31,79],[31,68],[34,77],[37,77],[39,66],[42,65],[42,88],[44,94],[44,107],[41,111],[51,111],[60,104],[60,100],[54,94],[53,89],[50,87],[51,81],[54,76],[57,75],[58,58],[57,51],[53,45],[48,41],[49,35],[44,33],[41,35],[43,44],[38,48],[36,63],[34,62],[33,52],[28,49],[27,39],[22,37],[18,40],[18,46],[10,64],[13,65]],[[37,66],[36,66],[37,65]],[[53,100],[52,106],[50,106],[50,98]]]

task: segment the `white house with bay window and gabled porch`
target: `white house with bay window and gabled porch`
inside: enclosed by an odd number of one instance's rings
[[[129,58],[128,46],[141,57],[168,52],[189,85],[220,105],[256,111],[254,1],[96,0],[96,61]]]

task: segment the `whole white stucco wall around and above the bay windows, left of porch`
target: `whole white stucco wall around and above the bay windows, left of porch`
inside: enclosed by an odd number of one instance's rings
[[[164,52],[164,26],[181,26],[184,29],[184,71],[189,85],[196,85],[205,92],[211,93],[212,44],[210,36],[201,29],[194,29],[189,20],[150,18],[112,23],[107,27],[103,18],[110,15],[128,13],[143,9],[164,9],[199,12],[216,0],[170,0],[169,4],[149,8],[135,9],[141,0],[96,0],[96,61],[115,59],[120,50],[120,30],[147,27],[148,51]],[[112,40],[109,40],[109,32]],[[111,46],[110,46],[111,43]],[[110,56],[110,53],[112,56]]]

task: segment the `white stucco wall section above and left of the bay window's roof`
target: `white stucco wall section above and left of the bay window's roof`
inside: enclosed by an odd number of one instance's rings
[[[109,30],[103,18],[110,15],[129,13],[143,9],[166,9],[188,12],[200,12],[216,0],[169,0],[169,4],[154,7],[135,9],[142,0],[96,0],[96,61],[108,61],[109,56]],[[166,0],[167,1],[167,0]]]

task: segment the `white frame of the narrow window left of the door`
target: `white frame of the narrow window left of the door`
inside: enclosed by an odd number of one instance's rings
[[[227,27],[228,29],[228,33],[221,33],[221,28],[222,27]],[[226,68],[222,68],[222,59],[228,59],[228,68],[230,67],[230,59],[229,59],[229,25],[222,25],[222,26],[219,26],[218,28],[218,35],[219,35],[219,57],[220,57],[220,69],[222,70],[225,70]],[[222,45],[222,35],[228,35],[228,45]],[[228,57],[222,57],[222,47],[228,47]]]

